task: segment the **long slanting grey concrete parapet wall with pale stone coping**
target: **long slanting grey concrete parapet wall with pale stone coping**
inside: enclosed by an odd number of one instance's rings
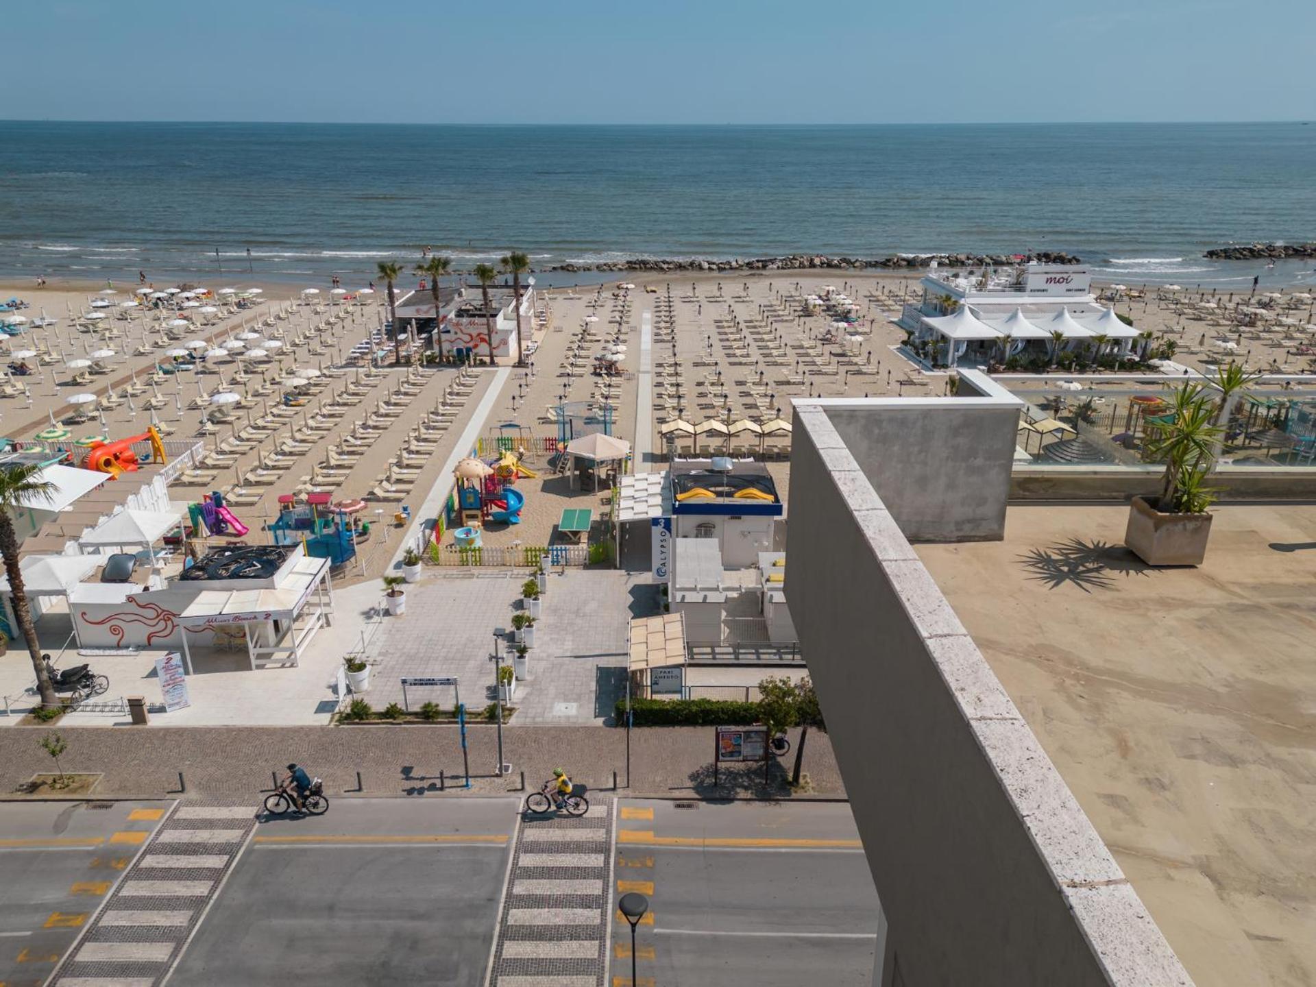
[[[907,465],[870,440],[863,468],[862,422],[828,418],[797,405],[786,596],[882,901],[879,976],[1191,983],[869,482]]]

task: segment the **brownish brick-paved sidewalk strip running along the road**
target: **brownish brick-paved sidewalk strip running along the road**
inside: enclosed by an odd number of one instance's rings
[[[0,794],[13,795],[37,771],[50,770],[50,755],[38,741],[49,730],[16,726],[0,730]],[[290,761],[307,765],[325,780],[333,797],[345,792],[403,795],[417,791],[408,774],[455,784],[462,774],[458,730],[450,724],[358,726],[195,726],[133,730],[129,726],[78,726],[61,730],[68,744],[66,771],[97,771],[104,778],[95,794],[104,797],[159,799],[178,794],[179,772],[187,796],[237,799],[255,804],[270,788],[271,771]],[[472,792],[507,792],[536,787],[554,767],[565,767],[591,791],[612,788],[613,771],[625,787],[625,730],[612,726],[504,728],[504,755],[511,778],[494,776],[496,730],[491,724],[467,729]],[[783,765],[771,769],[763,784],[761,765],[725,767],[721,784],[712,784],[713,728],[666,726],[632,732],[632,784],[628,795],[761,797],[786,796]],[[403,769],[412,769],[404,774]],[[357,772],[361,772],[358,786]],[[804,771],[813,792],[844,796],[840,772],[826,734],[811,730]],[[451,791],[451,790],[450,790]],[[420,796],[417,796],[420,797]]]

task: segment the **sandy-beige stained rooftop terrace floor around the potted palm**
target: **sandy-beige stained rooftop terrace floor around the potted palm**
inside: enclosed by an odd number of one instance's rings
[[[1316,507],[1216,508],[1200,569],[1126,517],[916,551],[1196,983],[1316,982]]]

